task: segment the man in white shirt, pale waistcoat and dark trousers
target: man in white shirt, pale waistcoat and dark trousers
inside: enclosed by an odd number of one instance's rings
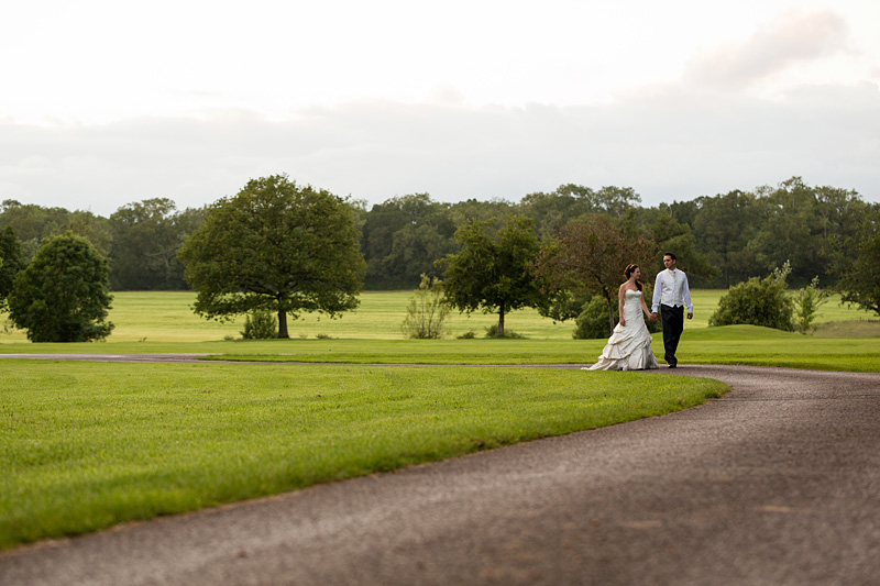
[[[657,274],[651,299],[651,321],[657,321],[657,305],[660,305],[660,319],[663,324],[663,357],[670,368],[674,368],[679,363],[675,358],[675,350],[679,347],[679,339],[684,329],[684,306],[688,307],[688,319],[694,317],[688,275],[675,268],[675,255],[671,252],[663,255],[663,265],[667,269]]]

